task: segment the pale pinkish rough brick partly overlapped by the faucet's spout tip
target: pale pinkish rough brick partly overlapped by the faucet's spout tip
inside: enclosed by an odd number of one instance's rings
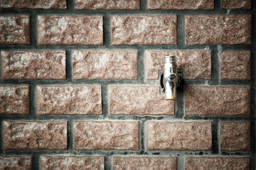
[[[174,115],[174,101],[159,86],[110,86],[111,115]]]

